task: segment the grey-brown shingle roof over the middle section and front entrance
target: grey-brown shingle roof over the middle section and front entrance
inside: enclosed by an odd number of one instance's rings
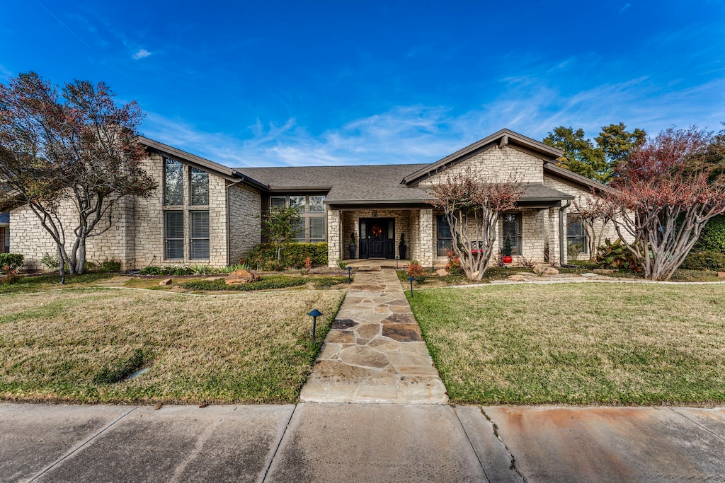
[[[406,188],[400,182],[423,166],[425,164],[380,164],[236,170],[269,185],[270,190],[329,190],[327,203],[414,203],[429,200],[431,195],[420,188]]]

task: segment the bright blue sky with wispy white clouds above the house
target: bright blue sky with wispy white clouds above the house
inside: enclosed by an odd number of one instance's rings
[[[171,6],[173,5],[173,6]],[[0,81],[104,81],[229,166],[432,162],[508,127],[725,121],[725,1],[8,2]]]

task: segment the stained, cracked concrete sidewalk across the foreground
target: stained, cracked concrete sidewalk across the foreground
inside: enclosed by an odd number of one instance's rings
[[[724,455],[724,409],[0,404],[3,482],[716,482]]]

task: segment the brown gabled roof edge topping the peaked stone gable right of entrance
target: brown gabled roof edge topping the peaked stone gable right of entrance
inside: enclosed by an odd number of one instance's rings
[[[468,159],[475,154],[479,154],[481,151],[486,151],[494,146],[503,147],[505,145],[517,146],[526,151],[533,151],[535,154],[541,156],[544,161],[554,161],[564,154],[564,151],[561,151],[560,149],[553,148],[552,146],[548,146],[547,144],[535,139],[527,138],[519,133],[514,133],[512,130],[502,129],[497,133],[493,133],[486,138],[478,140],[475,143],[456,151],[453,154],[449,154],[443,159],[439,159],[431,164],[426,164],[421,169],[418,169],[418,171],[404,177],[402,183],[404,185],[410,185],[411,183],[420,180],[422,177],[434,175],[436,172],[439,172],[440,169]]]

